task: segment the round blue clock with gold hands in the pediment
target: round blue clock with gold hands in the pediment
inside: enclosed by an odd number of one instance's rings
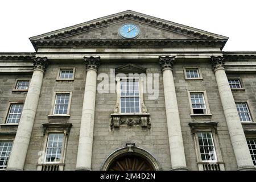
[[[119,36],[124,39],[135,39],[141,34],[141,30],[139,27],[135,26],[134,24],[123,24],[119,28]]]

